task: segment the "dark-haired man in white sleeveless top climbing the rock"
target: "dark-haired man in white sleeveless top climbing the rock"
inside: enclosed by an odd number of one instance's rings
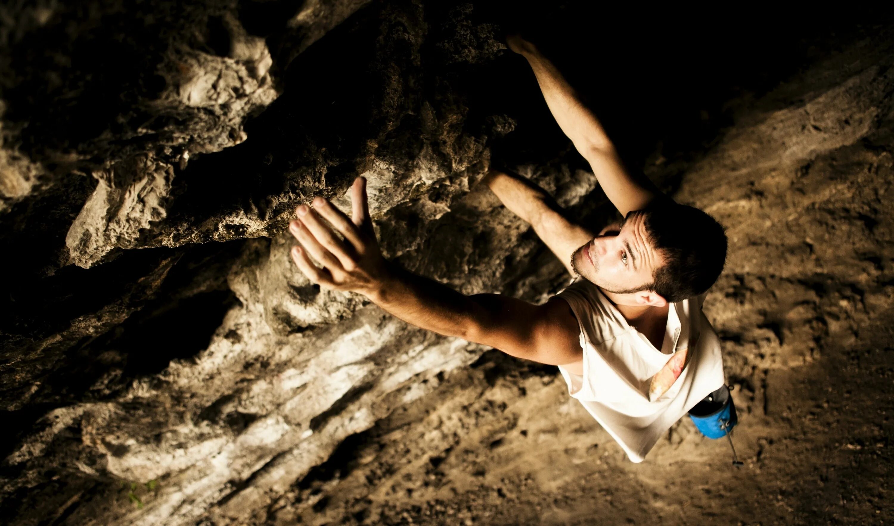
[[[466,296],[385,260],[367,208],[366,180],[351,188],[353,217],[325,199],[290,224],[292,259],[312,282],[366,295],[404,321],[559,366],[569,394],[642,462],[674,422],[724,384],[719,339],[702,313],[720,275],[726,236],[711,216],[674,203],[628,174],[595,115],[536,47],[513,36],[561,130],[589,161],[624,216],[595,235],[561,215],[519,176],[485,183],[532,225],[575,279],[543,305],[500,294]],[[325,218],[342,241],[321,221]],[[316,260],[322,267],[314,264]]]

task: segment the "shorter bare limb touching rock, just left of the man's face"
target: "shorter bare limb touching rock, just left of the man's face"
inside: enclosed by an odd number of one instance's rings
[[[589,229],[570,221],[544,189],[516,174],[492,169],[482,180],[516,216],[534,228],[541,241],[575,276],[571,255],[593,239]]]

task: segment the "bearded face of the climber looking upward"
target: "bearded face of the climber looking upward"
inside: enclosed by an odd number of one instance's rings
[[[606,226],[571,256],[578,275],[616,294],[646,290],[662,263],[661,253],[649,242],[641,214],[629,214],[623,223]]]

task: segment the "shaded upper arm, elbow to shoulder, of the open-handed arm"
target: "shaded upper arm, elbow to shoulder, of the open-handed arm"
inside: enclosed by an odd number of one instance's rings
[[[534,305],[501,294],[471,297],[488,314],[469,332],[470,341],[548,365],[581,359],[578,318],[567,301],[552,298]]]

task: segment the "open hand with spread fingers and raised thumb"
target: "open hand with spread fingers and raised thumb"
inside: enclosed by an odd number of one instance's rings
[[[388,266],[369,216],[366,178],[358,177],[350,191],[352,218],[319,197],[313,200],[314,208],[301,205],[295,209],[298,219],[289,223],[289,230],[300,246],[291,248],[291,259],[311,283],[368,295],[384,282]],[[344,241],[325,225],[321,216],[344,236]],[[316,267],[310,258],[323,268]]]

